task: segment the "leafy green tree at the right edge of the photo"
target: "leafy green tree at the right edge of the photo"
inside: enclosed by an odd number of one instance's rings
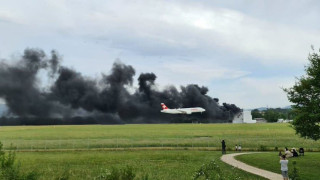
[[[312,48],[313,49],[313,48]],[[292,123],[301,137],[320,138],[320,50],[309,54],[306,75],[297,78],[295,85],[285,88],[290,102],[294,103],[295,118]]]

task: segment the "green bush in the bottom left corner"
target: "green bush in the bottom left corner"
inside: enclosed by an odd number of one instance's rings
[[[12,148],[11,148],[12,149]],[[22,173],[20,165],[16,165],[16,154],[14,151],[4,152],[3,144],[0,142],[0,179],[2,180],[36,180],[38,173],[35,171]]]

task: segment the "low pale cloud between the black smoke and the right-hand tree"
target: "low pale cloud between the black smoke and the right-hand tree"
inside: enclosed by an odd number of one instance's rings
[[[245,77],[225,86],[212,87],[222,101],[232,102],[241,108],[284,107],[291,103],[282,88],[295,82],[290,77]],[[227,86],[227,87],[226,87]]]

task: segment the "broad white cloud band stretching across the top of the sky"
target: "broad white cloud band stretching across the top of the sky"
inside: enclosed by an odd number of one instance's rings
[[[19,17],[26,26],[34,26],[35,31],[100,39],[107,47],[145,55],[201,56],[220,49],[253,57],[263,64],[283,63],[280,60],[301,64],[310,45],[320,41],[319,31],[267,22],[200,3],[33,2],[20,6],[12,3],[8,8],[16,10],[16,14],[11,16]]]

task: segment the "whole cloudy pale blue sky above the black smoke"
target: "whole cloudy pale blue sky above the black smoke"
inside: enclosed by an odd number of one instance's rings
[[[320,47],[319,17],[317,0],[3,0],[0,59],[54,49],[90,77],[120,60],[159,89],[198,84],[221,103],[284,107],[282,88]]]

